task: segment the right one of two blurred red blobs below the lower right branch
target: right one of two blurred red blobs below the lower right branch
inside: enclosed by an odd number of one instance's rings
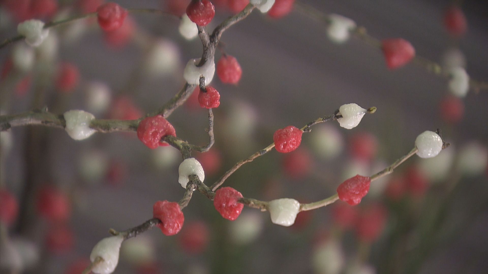
[[[356,224],[358,238],[365,242],[375,241],[385,228],[387,214],[385,207],[381,204],[368,206]]]

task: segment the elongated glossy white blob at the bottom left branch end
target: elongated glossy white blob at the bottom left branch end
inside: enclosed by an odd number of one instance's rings
[[[98,242],[90,254],[90,261],[95,261],[101,257],[103,261],[97,264],[92,272],[96,274],[110,274],[114,272],[119,263],[119,251],[121,249],[123,237],[121,235],[111,236]]]

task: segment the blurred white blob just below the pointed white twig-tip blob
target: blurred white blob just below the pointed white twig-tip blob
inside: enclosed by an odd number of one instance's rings
[[[344,148],[344,137],[333,125],[316,125],[310,135],[313,152],[319,157],[333,159],[339,156]]]

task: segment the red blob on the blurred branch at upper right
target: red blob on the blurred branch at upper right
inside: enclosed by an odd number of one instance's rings
[[[414,56],[415,49],[405,39],[385,39],[381,41],[381,48],[389,69],[396,69],[406,65]]]

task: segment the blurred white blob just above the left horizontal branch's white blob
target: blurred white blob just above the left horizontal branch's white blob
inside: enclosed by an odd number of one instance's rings
[[[110,105],[111,92],[107,84],[103,82],[89,82],[85,89],[86,107],[94,113],[102,113]]]

